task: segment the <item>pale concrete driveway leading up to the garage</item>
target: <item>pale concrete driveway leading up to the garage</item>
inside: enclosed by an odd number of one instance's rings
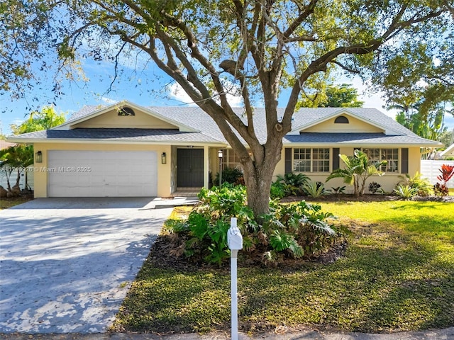
[[[0,333],[106,331],[176,203],[40,198],[1,210]]]

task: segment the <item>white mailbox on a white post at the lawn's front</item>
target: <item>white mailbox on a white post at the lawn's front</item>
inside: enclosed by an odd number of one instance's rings
[[[232,306],[232,340],[238,340],[238,293],[237,293],[237,260],[238,250],[243,249],[243,236],[236,225],[236,217],[231,217],[230,228],[227,232],[227,243],[230,249],[231,270],[231,306]]]

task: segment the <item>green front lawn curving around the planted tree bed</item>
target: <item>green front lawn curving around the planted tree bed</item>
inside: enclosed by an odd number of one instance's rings
[[[454,326],[454,203],[321,203],[350,225],[330,265],[238,268],[240,329],[298,324],[389,332]],[[175,216],[174,216],[175,218]],[[241,261],[239,260],[239,263]],[[145,263],[113,329],[214,331],[230,323],[230,273]]]

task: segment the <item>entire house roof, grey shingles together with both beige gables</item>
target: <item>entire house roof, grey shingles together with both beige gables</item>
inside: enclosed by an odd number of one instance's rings
[[[148,125],[128,125],[112,128],[106,125],[109,118],[123,120],[134,117],[118,117],[118,109],[132,108],[135,118],[148,118]],[[233,111],[245,120],[244,108]],[[112,115],[112,116],[109,116]],[[284,108],[277,109],[282,119]],[[344,115],[355,123],[355,129],[332,130],[334,120]],[[105,118],[105,119],[101,119]],[[260,143],[267,140],[265,108],[254,108],[254,129]],[[133,121],[133,120],[131,120]],[[246,123],[246,122],[245,122]],[[337,124],[346,125],[346,124]],[[162,128],[158,128],[158,127]],[[421,145],[436,147],[439,142],[425,140],[404,128],[392,118],[375,108],[301,108],[292,118],[294,129],[284,136],[284,145]],[[362,128],[358,128],[361,127]],[[137,130],[137,131],[135,131]],[[54,133],[55,132],[55,133]],[[300,133],[303,132],[303,133]],[[239,136],[238,136],[239,137]],[[245,144],[245,141],[239,137]],[[175,145],[226,144],[227,141],[214,120],[199,107],[143,107],[128,101],[113,106],[84,106],[80,111],[57,128],[44,132],[10,137],[11,142],[43,142],[43,140],[65,140],[66,142],[146,142]],[[199,144],[198,144],[199,143]]]

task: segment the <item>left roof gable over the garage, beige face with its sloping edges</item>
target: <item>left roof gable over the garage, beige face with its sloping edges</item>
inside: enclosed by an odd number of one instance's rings
[[[123,108],[125,109],[123,111]],[[132,115],[125,115],[128,112]],[[131,129],[167,129],[181,132],[196,132],[194,128],[151,111],[150,108],[122,101],[111,106],[86,106],[74,113],[70,120],[52,130],[72,130],[76,128],[131,128]]]

